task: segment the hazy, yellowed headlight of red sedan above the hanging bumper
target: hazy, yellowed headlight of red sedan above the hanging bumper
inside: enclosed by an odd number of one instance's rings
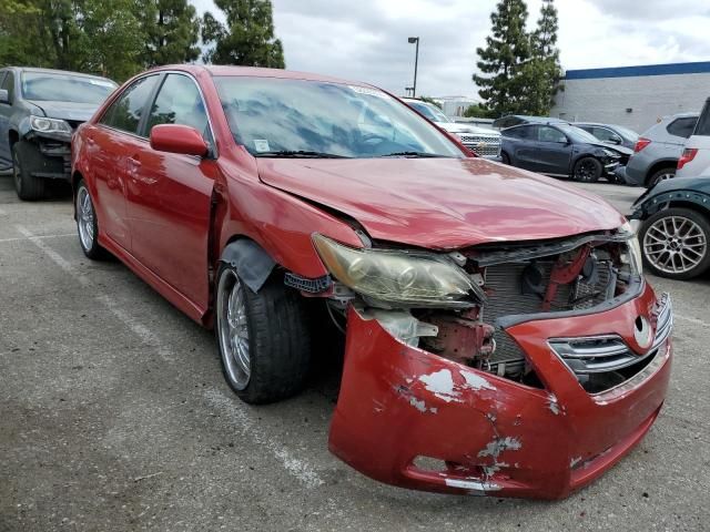
[[[404,307],[470,307],[485,298],[447,257],[424,252],[355,249],[323,235],[313,243],[331,274],[365,297]]]

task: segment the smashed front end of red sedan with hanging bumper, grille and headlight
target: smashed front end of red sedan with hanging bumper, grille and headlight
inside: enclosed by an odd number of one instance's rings
[[[449,254],[314,244],[337,280],[300,288],[347,317],[331,450],[365,474],[555,499],[656,419],[672,315],[628,226]]]

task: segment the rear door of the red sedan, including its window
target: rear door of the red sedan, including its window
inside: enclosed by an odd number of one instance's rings
[[[132,156],[148,146],[139,132],[160,78],[152,74],[135,80],[84,135],[101,231],[128,250],[131,234],[125,195],[128,181],[136,171]]]

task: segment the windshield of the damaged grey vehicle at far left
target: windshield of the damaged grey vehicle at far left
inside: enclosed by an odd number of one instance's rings
[[[104,78],[23,72],[22,96],[26,100],[71,103],[103,103],[118,85]]]

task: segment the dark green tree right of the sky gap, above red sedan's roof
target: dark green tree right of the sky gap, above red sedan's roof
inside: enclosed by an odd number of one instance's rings
[[[211,12],[202,19],[202,41],[213,48],[206,63],[285,68],[284,51],[274,37],[270,0],[215,0],[224,11],[226,25]]]

